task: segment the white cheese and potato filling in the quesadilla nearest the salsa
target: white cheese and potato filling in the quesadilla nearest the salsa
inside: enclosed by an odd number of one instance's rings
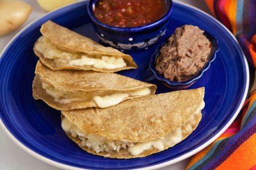
[[[47,39],[47,37],[41,36],[38,39],[38,43],[35,49],[42,53],[45,58],[48,59],[65,59],[70,66],[93,66],[98,69],[118,69],[126,66],[126,62],[123,58],[115,58],[108,56],[97,56],[92,58],[85,54],[69,53],[57,48],[56,45]],[[95,56],[96,57],[96,56]]]

